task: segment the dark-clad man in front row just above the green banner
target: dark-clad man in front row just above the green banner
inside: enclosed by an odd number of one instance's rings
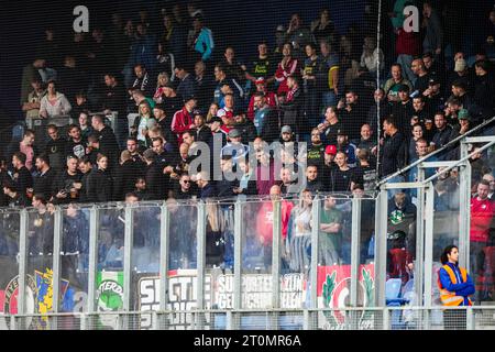
[[[108,157],[103,154],[97,156],[97,168],[94,168],[87,178],[87,201],[107,202],[112,200],[113,180],[108,172]]]

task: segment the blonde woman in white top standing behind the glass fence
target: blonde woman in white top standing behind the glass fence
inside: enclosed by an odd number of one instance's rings
[[[294,232],[289,243],[289,267],[294,273],[308,274],[310,266],[312,194],[302,190],[299,204],[293,209]]]

